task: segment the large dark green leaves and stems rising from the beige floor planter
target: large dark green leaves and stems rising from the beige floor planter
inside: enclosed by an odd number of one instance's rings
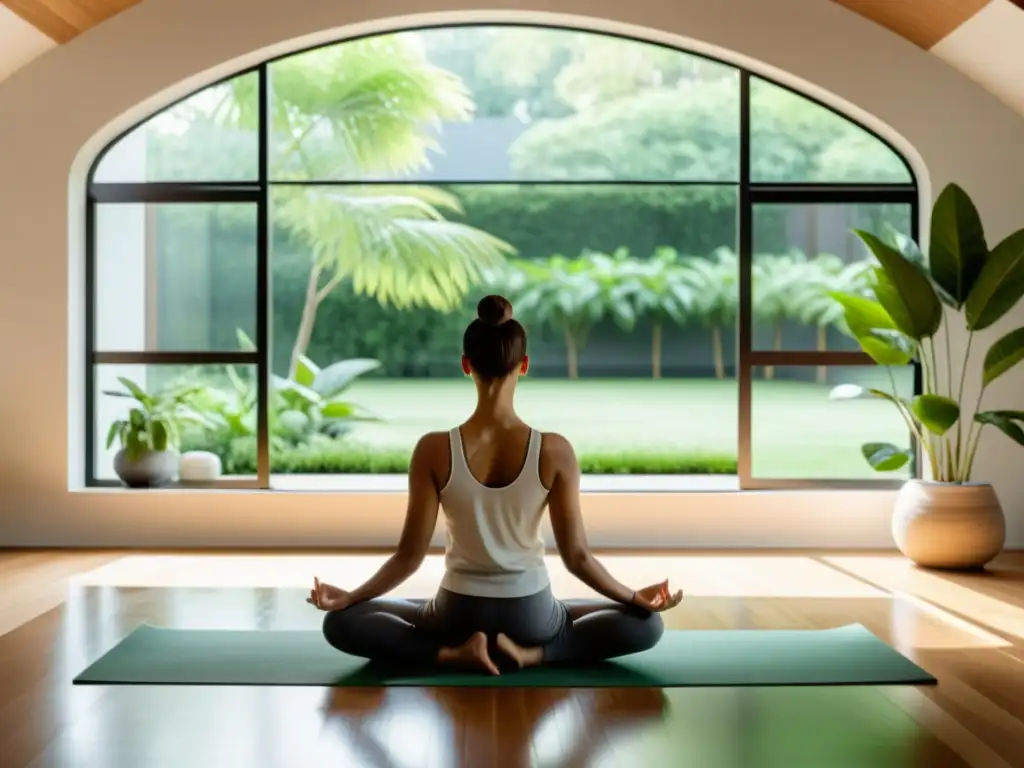
[[[846,325],[879,362],[898,365],[910,356],[922,361],[925,392],[910,403],[895,393],[889,399],[927,454],[932,476],[940,481],[967,482],[984,425],[993,425],[1024,444],[1019,424],[1024,412],[979,412],[988,385],[1024,359],[1024,329],[992,344],[985,355],[974,411],[964,403],[974,332],[1001,318],[1024,295],[1024,229],[989,251],[974,203],[964,189],[950,184],[932,211],[927,264],[912,243],[904,241],[894,248],[868,232],[857,233],[882,265],[874,269],[873,299],[838,296]],[[940,371],[934,337],[944,330],[949,349],[949,323],[954,318],[964,324],[970,340],[958,367],[947,359],[945,371]],[[958,374],[958,382],[954,374]],[[969,414],[971,418],[965,418]],[[872,466],[876,456],[879,452],[868,456],[865,451]]]

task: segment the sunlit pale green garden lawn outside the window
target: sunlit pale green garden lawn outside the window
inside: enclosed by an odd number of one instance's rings
[[[526,378],[519,387],[522,418],[538,429],[564,434],[582,458],[646,454],[671,461],[736,455],[734,381]],[[755,476],[878,477],[861,456],[861,443],[908,444],[906,428],[890,403],[829,400],[830,388],[755,381]],[[384,420],[358,425],[352,440],[408,452],[424,432],[450,429],[469,416],[473,385],[468,379],[365,379],[348,395]]]

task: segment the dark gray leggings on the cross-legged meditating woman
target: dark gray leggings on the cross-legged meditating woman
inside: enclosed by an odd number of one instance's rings
[[[476,632],[494,642],[504,633],[524,647],[544,648],[546,664],[588,664],[654,647],[658,613],[608,600],[555,600],[550,588],[526,597],[460,595],[441,589],[431,600],[379,598],[331,611],[324,636],[353,656],[429,664],[441,646]]]

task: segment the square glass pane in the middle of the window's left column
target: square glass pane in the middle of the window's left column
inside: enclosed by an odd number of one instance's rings
[[[96,207],[99,351],[238,350],[256,334],[256,206]]]

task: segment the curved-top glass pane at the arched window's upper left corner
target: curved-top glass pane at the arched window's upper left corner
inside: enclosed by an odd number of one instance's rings
[[[119,139],[94,181],[251,181],[257,176],[258,77],[189,96]]]

